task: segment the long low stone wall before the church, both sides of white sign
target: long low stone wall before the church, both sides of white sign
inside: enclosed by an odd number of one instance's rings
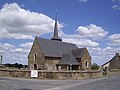
[[[29,70],[5,70],[0,69],[0,77],[31,78]],[[102,77],[101,71],[41,71],[38,70],[38,79],[87,79]]]

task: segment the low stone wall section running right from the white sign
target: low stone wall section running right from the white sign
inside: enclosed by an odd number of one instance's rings
[[[42,71],[39,72],[40,79],[87,79],[101,77],[101,71]]]

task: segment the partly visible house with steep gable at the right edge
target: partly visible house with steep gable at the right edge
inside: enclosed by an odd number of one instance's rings
[[[120,69],[120,55],[116,53],[115,56],[108,62],[102,65],[102,67],[109,69]]]

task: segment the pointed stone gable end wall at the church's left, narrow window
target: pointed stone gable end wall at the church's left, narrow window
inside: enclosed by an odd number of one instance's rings
[[[31,51],[28,55],[28,68],[43,70],[45,66],[45,56],[38,44],[37,38],[35,38]]]

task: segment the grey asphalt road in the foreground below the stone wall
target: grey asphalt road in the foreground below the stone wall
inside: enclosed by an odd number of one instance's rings
[[[0,90],[120,90],[120,76],[88,80],[36,80],[0,77]]]

